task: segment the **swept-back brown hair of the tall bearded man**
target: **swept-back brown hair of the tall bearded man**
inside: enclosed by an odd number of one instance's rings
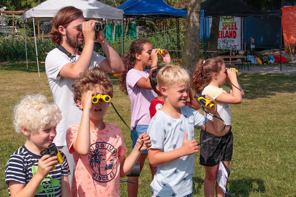
[[[50,37],[53,43],[60,44],[62,34],[59,32],[59,26],[67,28],[67,26],[79,16],[83,16],[83,12],[73,6],[63,7],[58,11],[51,22]]]

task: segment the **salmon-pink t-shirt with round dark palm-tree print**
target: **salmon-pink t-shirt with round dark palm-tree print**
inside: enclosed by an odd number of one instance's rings
[[[75,152],[73,142],[79,124],[70,126],[66,140],[76,164],[72,183],[73,197],[119,197],[119,157],[127,152],[119,127],[105,124],[101,131],[90,131],[90,150],[87,155]]]

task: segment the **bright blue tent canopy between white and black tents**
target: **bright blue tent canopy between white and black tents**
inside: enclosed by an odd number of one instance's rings
[[[187,10],[176,9],[163,0],[127,0],[117,7],[127,18],[186,18]]]

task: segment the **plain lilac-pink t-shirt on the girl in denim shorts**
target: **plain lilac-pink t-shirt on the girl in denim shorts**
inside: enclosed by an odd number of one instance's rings
[[[149,125],[149,106],[157,94],[150,89],[140,88],[136,85],[140,78],[148,78],[149,70],[140,71],[134,68],[126,74],[126,89],[131,100],[131,129],[136,125]]]

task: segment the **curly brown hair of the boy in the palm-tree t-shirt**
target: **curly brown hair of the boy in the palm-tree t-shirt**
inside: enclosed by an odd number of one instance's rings
[[[107,77],[104,71],[95,67],[91,70],[81,72],[74,84],[72,85],[74,93],[74,102],[81,100],[81,96],[88,90],[93,90],[97,86],[103,91],[104,94],[113,97],[113,86],[109,77]]]

